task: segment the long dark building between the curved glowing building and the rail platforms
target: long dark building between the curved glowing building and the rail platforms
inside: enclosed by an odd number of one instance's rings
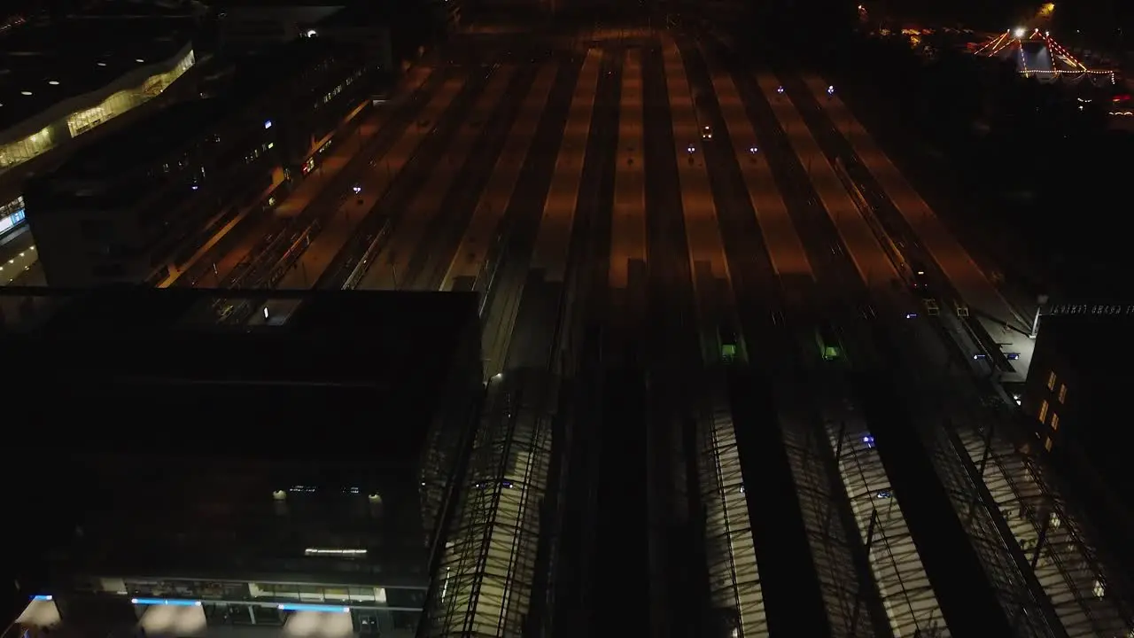
[[[160,282],[240,210],[307,175],[376,72],[357,47],[303,39],[214,59],[198,98],[105,136],[27,186],[50,285]]]

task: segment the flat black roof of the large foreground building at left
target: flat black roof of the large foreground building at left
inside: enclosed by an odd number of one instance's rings
[[[16,294],[27,291],[0,291]],[[471,294],[280,293],[270,296],[303,301],[285,325],[257,328],[195,324],[215,303],[211,294],[221,293],[51,292],[39,301],[56,308],[31,327],[0,333],[0,347],[29,361],[26,373],[56,397],[39,413],[45,422],[70,420],[61,410],[74,402],[115,420],[115,437],[81,429],[70,445],[144,452],[176,443],[186,453],[215,452],[211,436],[247,430],[253,436],[229,442],[234,453],[405,460],[416,457],[438,393],[476,334]],[[19,311],[2,308],[15,322]],[[181,427],[193,433],[184,442]],[[270,434],[277,427],[287,434]],[[349,431],[350,443],[337,431]]]

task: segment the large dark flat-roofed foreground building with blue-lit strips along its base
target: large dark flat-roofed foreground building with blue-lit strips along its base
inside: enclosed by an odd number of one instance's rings
[[[222,328],[188,288],[48,294],[0,347],[43,362],[36,419],[113,428],[20,447],[75,486],[33,517],[75,530],[34,585],[56,633],[413,635],[483,393],[475,295],[284,295],[286,325]]]

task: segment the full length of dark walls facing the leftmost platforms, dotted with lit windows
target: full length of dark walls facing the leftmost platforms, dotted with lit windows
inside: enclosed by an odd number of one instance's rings
[[[50,285],[88,286],[149,280],[200,245],[210,219],[262,192],[278,170],[294,181],[314,144],[365,102],[375,75],[362,54],[337,52],[297,69],[219,124],[204,125],[189,146],[147,166],[122,158],[122,170],[91,187],[117,193],[118,207],[88,205],[67,195],[82,184],[54,182],[29,195],[32,229]],[[129,134],[129,131],[122,132]],[[133,177],[130,177],[133,175]]]

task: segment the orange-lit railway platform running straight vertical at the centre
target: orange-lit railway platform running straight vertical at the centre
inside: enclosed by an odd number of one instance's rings
[[[642,160],[642,52],[623,62],[615,204],[610,232],[610,287],[626,288],[632,261],[645,261],[645,163]]]

